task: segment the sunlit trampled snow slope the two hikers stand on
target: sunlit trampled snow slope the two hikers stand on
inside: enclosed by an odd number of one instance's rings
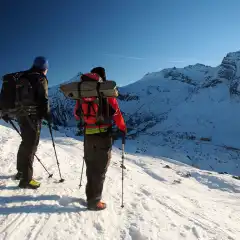
[[[197,170],[173,159],[129,154],[135,148],[129,141],[125,208],[120,207],[121,151],[114,148],[103,194],[108,208],[91,212],[84,204],[84,187],[78,189],[81,141],[54,132],[66,180],[58,183],[51,139],[43,128],[37,155],[54,176],[48,179],[35,161],[34,176],[42,185],[38,190],[22,190],[11,178],[20,137],[2,122],[0,131],[0,239],[240,239],[240,181],[229,175]]]

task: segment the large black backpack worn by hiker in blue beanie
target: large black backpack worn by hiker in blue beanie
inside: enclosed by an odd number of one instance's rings
[[[37,74],[37,73],[32,73]],[[26,72],[6,74],[2,77],[0,109],[2,116],[16,118],[36,114],[34,89]]]

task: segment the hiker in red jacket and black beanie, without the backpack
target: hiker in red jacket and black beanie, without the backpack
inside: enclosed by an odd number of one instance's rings
[[[97,67],[91,70],[106,81],[105,69]],[[107,98],[112,112],[112,119],[123,134],[126,133],[126,125],[122,117],[116,98]],[[80,120],[78,109],[80,102],[77,101],[74,115]],[[86,162],[87,186],[86,196],[89,210],[103,210],[106,203],[101,201],[103,184],[108,165],[111,159],[112,134],[111,124],[96,125],[86,124],[84,134],[84,159]]]

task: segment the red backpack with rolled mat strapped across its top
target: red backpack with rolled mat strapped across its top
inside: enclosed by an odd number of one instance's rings
[[[94,127],[111,125],[110,105],[108,97],[117,97],[118,91],[114,81],[103,82],[96,73],[87,73],[81,76],[80,82],[72,82],[60,86],[66,97],[78,101],[77,115],[82,126]],[[90,129],[87,131],[91,132]]]

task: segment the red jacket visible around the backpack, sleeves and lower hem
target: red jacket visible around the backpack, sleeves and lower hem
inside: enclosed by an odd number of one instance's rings
[[[119,105],[118,105],[118,102],[117,102],[117,99],[116,98],[112,98],[112,97],[109,97],[107,98],[107,101],[108,103],[110,104],[110,106],[115,110],[115,113],[113,114],[113,120],[115,122],[115,124],[117,125],[117,127],[125,132],[126,131],[126,124],[124,122],[124,119],[123,119],[123,116],[122,116],[122,113],[120,111],[120,108],[119,108]],[[74,108],[74,116],[75,116],[75,119],[76,120],[80,120],[80,117],[77,115],[77,110],[79,109],[80,107],[80,102],[77,101],[76,102],[76,105],[75,105],[75,108]],[[100,126],[86,126],[86,129],[101,129],[101,128],[108,128],[108,127],[111,127],[110,124],[106,124],[106,125],[100,125]]]

